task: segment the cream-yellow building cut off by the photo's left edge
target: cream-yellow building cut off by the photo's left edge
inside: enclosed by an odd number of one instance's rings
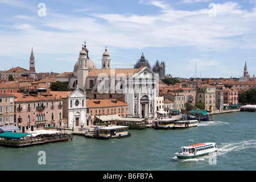
[[[0,93],[0,126],[14,123],[14,96],[9,93]]]

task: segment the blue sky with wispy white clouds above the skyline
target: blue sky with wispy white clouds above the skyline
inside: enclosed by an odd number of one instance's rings
[[[86,42],[101,68],[133,68],[142,53],[173,77],[256,74],[256,0],[0,0],[0,71],[72,72]]]

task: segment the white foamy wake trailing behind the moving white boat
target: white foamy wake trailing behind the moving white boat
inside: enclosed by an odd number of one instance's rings
[[[241,151],[246,148],[256,148],[256,140],[247,140],[242,142],[221,143],[218,146],[218,155],[224,155],[230,151]]]

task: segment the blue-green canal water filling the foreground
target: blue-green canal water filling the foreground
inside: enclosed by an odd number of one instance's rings
[[[122,139],[75,135],[67,142],[26,148],[0,146],[0,170],[254,171],[255,118],[256,113],[225,113],[184,130],[130,130],[131,137]],[[188,160],[174,155],[181,146],[204,142],[216,142],[218,152]],[[39,164],[39,151],[45,152],[46,164]]]

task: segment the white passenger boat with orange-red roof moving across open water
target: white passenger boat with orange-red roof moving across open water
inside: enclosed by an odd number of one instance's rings
[[[216,143],[197,143],[190,146],[181,147],[181,151],[175,153],[179,159],[194,159],[201,156],[217,152]]]

